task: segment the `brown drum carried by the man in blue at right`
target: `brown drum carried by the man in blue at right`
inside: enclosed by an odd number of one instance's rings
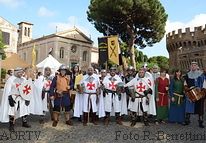
[[[190,87],[190,89],[185,94],[192,102],[198,101],[204,97],[203,92],[201,92],[201,90],[195,86]]]

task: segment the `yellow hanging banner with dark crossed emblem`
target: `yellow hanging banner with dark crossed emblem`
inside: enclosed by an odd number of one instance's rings
[[[111,36],[107,38],[108,42],[108,57],[113,63],[119,65],[119,41],[118,36]]]

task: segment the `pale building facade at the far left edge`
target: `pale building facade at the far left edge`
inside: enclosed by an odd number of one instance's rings
[[[17,27],[0,16],[0,32],[6,46],[5,52],[7,57],[13,53],[17,53]]]

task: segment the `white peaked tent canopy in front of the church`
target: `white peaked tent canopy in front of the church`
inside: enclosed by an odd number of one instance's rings
[[[54,74],[59,69],[60,66],[61,63],[58,62],[52,55],[49,55],[46,59],[44,59],[43,61],[41,61],[39,64],[36,65],[36,67],[42,70],[42,72],[44,72],[44,69],[46,67],[50,67],[52,70],[52,74]]]

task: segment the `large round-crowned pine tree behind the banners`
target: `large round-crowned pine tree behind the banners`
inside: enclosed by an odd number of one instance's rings
[[[91,0],[88,20],[104,35],[119,35],[136,67],[134,45],[144,48],[165,34],[167,14],[159,0]]]

